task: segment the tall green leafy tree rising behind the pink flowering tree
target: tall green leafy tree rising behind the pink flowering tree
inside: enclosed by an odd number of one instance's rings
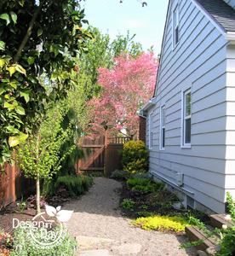
[[[108,33],[103,34],[96,27],[89,26],[88,30],[94,39],[86,41],[88,52],[79,54],[77,67],[80,73],[86,74],[91,80],[90,99],[100,92],[100,85],[97,84],[98,68],[111,69],[114,66],[113,57],[129,54],[136,58],[143,53],[143,49],[140,43],[135,43],[133,40],[135,35],[130,37],[129,32],[126,36],[117,35],[117,38],[112,41]]]

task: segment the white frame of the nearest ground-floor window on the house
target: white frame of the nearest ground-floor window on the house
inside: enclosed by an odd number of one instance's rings
[[[186,116],[186,95],[191,92],[191,114]],[[186,119],[191,119],[191,140],[186,143]],[[191,148],[192,142],[192,85],[181,91],[181,148]]]

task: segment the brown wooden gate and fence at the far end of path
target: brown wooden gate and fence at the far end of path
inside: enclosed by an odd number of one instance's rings
[[[105,136],[95,140],[85,138],[80,145],[85,153],[85,158],[79,160],[76,167],[78,173],[101,172],[110,177],[116,169],[121,170],[121,155],[118,150],[123,149],[123,144],[131,141],[133,137],[108,137]]]

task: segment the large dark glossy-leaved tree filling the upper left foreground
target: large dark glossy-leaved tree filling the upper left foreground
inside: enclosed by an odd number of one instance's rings
[[[43,102],[57,101],[72,86],[65,52],[86,50],[89,31],[76,0],[2,0],[0,3],[0,166],[15,145],[38,130]],[[38,78],[51,81],[49,95]]]

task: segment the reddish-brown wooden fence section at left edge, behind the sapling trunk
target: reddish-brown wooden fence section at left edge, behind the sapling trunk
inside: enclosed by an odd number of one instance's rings
[[[20,168],[4,164],[7,175],[0,172],[0,207],[9,205],[19,199],[21,195],[26,195],[34,187],[35,181],[24,177]]]

